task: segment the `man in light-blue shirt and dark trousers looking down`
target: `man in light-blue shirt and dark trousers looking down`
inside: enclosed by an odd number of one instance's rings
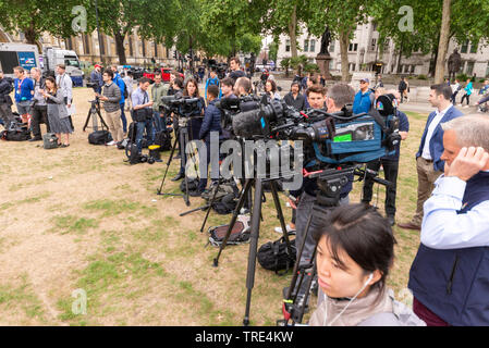
[[[143,134],[146,128],[146,135],[148,137],[148,145],[152,144],[152,101],[149,100],[148,96],[149,78],[139,78],[139,87],[133,91],[131,100],[133,102],[133,121],[136,124],[136,145],[137,150],[143,150]]]

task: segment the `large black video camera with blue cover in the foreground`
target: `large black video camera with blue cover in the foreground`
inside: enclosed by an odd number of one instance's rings
[[[241,100],[234,103],[241,105]],[[245,139],[303,140],[306,165],[326,169],[392,153],[401,141],[396,110],[393,95],[379,97],[375,110],[362,114],[353,114],[352,105],[338,113],[298,112],[284,101],[262,98],[256,108],[240,108],[231,117],[234,134]]]

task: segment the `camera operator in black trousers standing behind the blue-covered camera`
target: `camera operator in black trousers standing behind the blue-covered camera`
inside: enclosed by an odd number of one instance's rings
[[[379,88],[380,89],[380,88]],[[376,90],[377,91],[377,90]],[[401,102],[401,95],[396,90],[390,90],[390,94],[395,96],[398,102]],[[400,110],[398,110],[396,116],[399,117],[399,134],[401,135],[401,140],[405,140],[407,138],[407,133],[409,132],[409,121],[406,114]],[[389,220],[391,226],[395,224],[395,195],[396,195],[396,186],[398,186],[398,172],[399,172],[399,158],[401,153],[401,142],[395,146],[395,153],[392,156],[384,156],[377,161],[372,161],[367,163],[367,169],[378,172],[380,170],[380,165],[383,167],[383,174],[388,182],[391,183],[391,186],[386,188],[386,215]],[[362,202],[370,203],[372,196],[372,187],[374,181],[367,176],[365,178],[364,184],[364,197]]]

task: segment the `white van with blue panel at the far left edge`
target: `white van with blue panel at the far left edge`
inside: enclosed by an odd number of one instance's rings
[[[8,77],[15,77],[13,69],[22,66],[25,70],[39,67],[39,52],[36,45],[0,42],[0,70]]]

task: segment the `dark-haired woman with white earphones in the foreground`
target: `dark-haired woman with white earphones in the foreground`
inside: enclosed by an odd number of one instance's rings
[[[311,326],[426,325],[387,288],[396,241],[375,208],[339,207],[325,226],[314,236],[321,291]]]

